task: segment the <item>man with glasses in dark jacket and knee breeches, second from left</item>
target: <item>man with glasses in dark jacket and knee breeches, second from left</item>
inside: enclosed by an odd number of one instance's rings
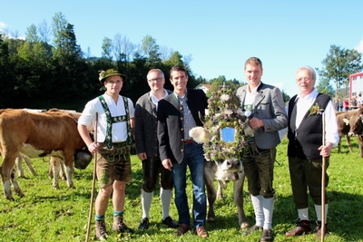
[[[171,91],[163,88],[165,83],[164,73],[159,69],[152,69],[147,74],[147,82],[151,91],[147,92],[136,102],[135,108],[135,142],[136,153],[142,160],[143,185],[142,185],[142,221],[139,229],[149,227],[149,211],[152,206],[153,190],[156,187],[159,174],[160,197],[162,199],[162,223],[168,227],[179,227],[169,216],[172,198],[172,172],[164,169],[159,156],[157,139],[158,102],[169,95]]]

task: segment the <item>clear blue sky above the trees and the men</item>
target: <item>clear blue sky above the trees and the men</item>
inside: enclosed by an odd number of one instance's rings
[[[101,56],[104,37],[126,36],[191,55],[191,70],[206,79],[224,75],[245,82],[250,56],[263,63],[262,82],[290,96],[295,71],[322,68],[331,44],[363,53],[363,1],[337,0],[0,0],[0,30],[24,36],[31,24],[50,26],[61,12],[74,24],[77,43]],[[146,73],[145,73],[146,74]]]

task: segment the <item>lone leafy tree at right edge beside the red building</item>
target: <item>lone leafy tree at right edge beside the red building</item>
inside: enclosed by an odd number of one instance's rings
[[[362,54],[356,50],[348,50],[338,45],[330,45],[327,57],[321,62],[323,68],[317,72],[321,79],[335,82],[336,94],[340,96],[341,86],[348,86],[349,75],[363,70],[360,63]]]

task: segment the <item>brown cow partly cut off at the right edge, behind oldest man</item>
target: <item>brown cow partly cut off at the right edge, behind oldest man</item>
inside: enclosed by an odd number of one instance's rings
[[[339,134],[339,143],[338,143],[338,153],[341,152],[341,138],[342,136],[346,137],[347,146],[350,152],[353,152],[353,149],[350,144],[350,137],[358,135],[358,143],[360,154],[359,157],[363,158],[363,142],[362,140],[362,121],[361,115],[363,115],[363,108],[359,108],[352,111],[337,111],[337,121],[338,121],[338,134]]]

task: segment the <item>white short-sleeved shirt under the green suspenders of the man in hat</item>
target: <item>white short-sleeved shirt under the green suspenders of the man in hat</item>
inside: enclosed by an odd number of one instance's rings
[[[113,98],[107,94],[103,94],[103,98],[107,103],[109,110],[111,111],[112,117],[123,116],[126,114],[123,97],[121,95],[119,95],[117,104],[113,101]],[[130,110],[129,118],[133,118],[133,103],[129,98],[127,98],[127,101]],[[106,137],[107,118],[98,97],[85,104],[84,110],[78,122],[86,126],[93,124],[94,127],[96,112],[98,113],[97,142],[103,142]],[[127,140],[126,121],[113,123],[113,142],[122,142],[125,140]]]

